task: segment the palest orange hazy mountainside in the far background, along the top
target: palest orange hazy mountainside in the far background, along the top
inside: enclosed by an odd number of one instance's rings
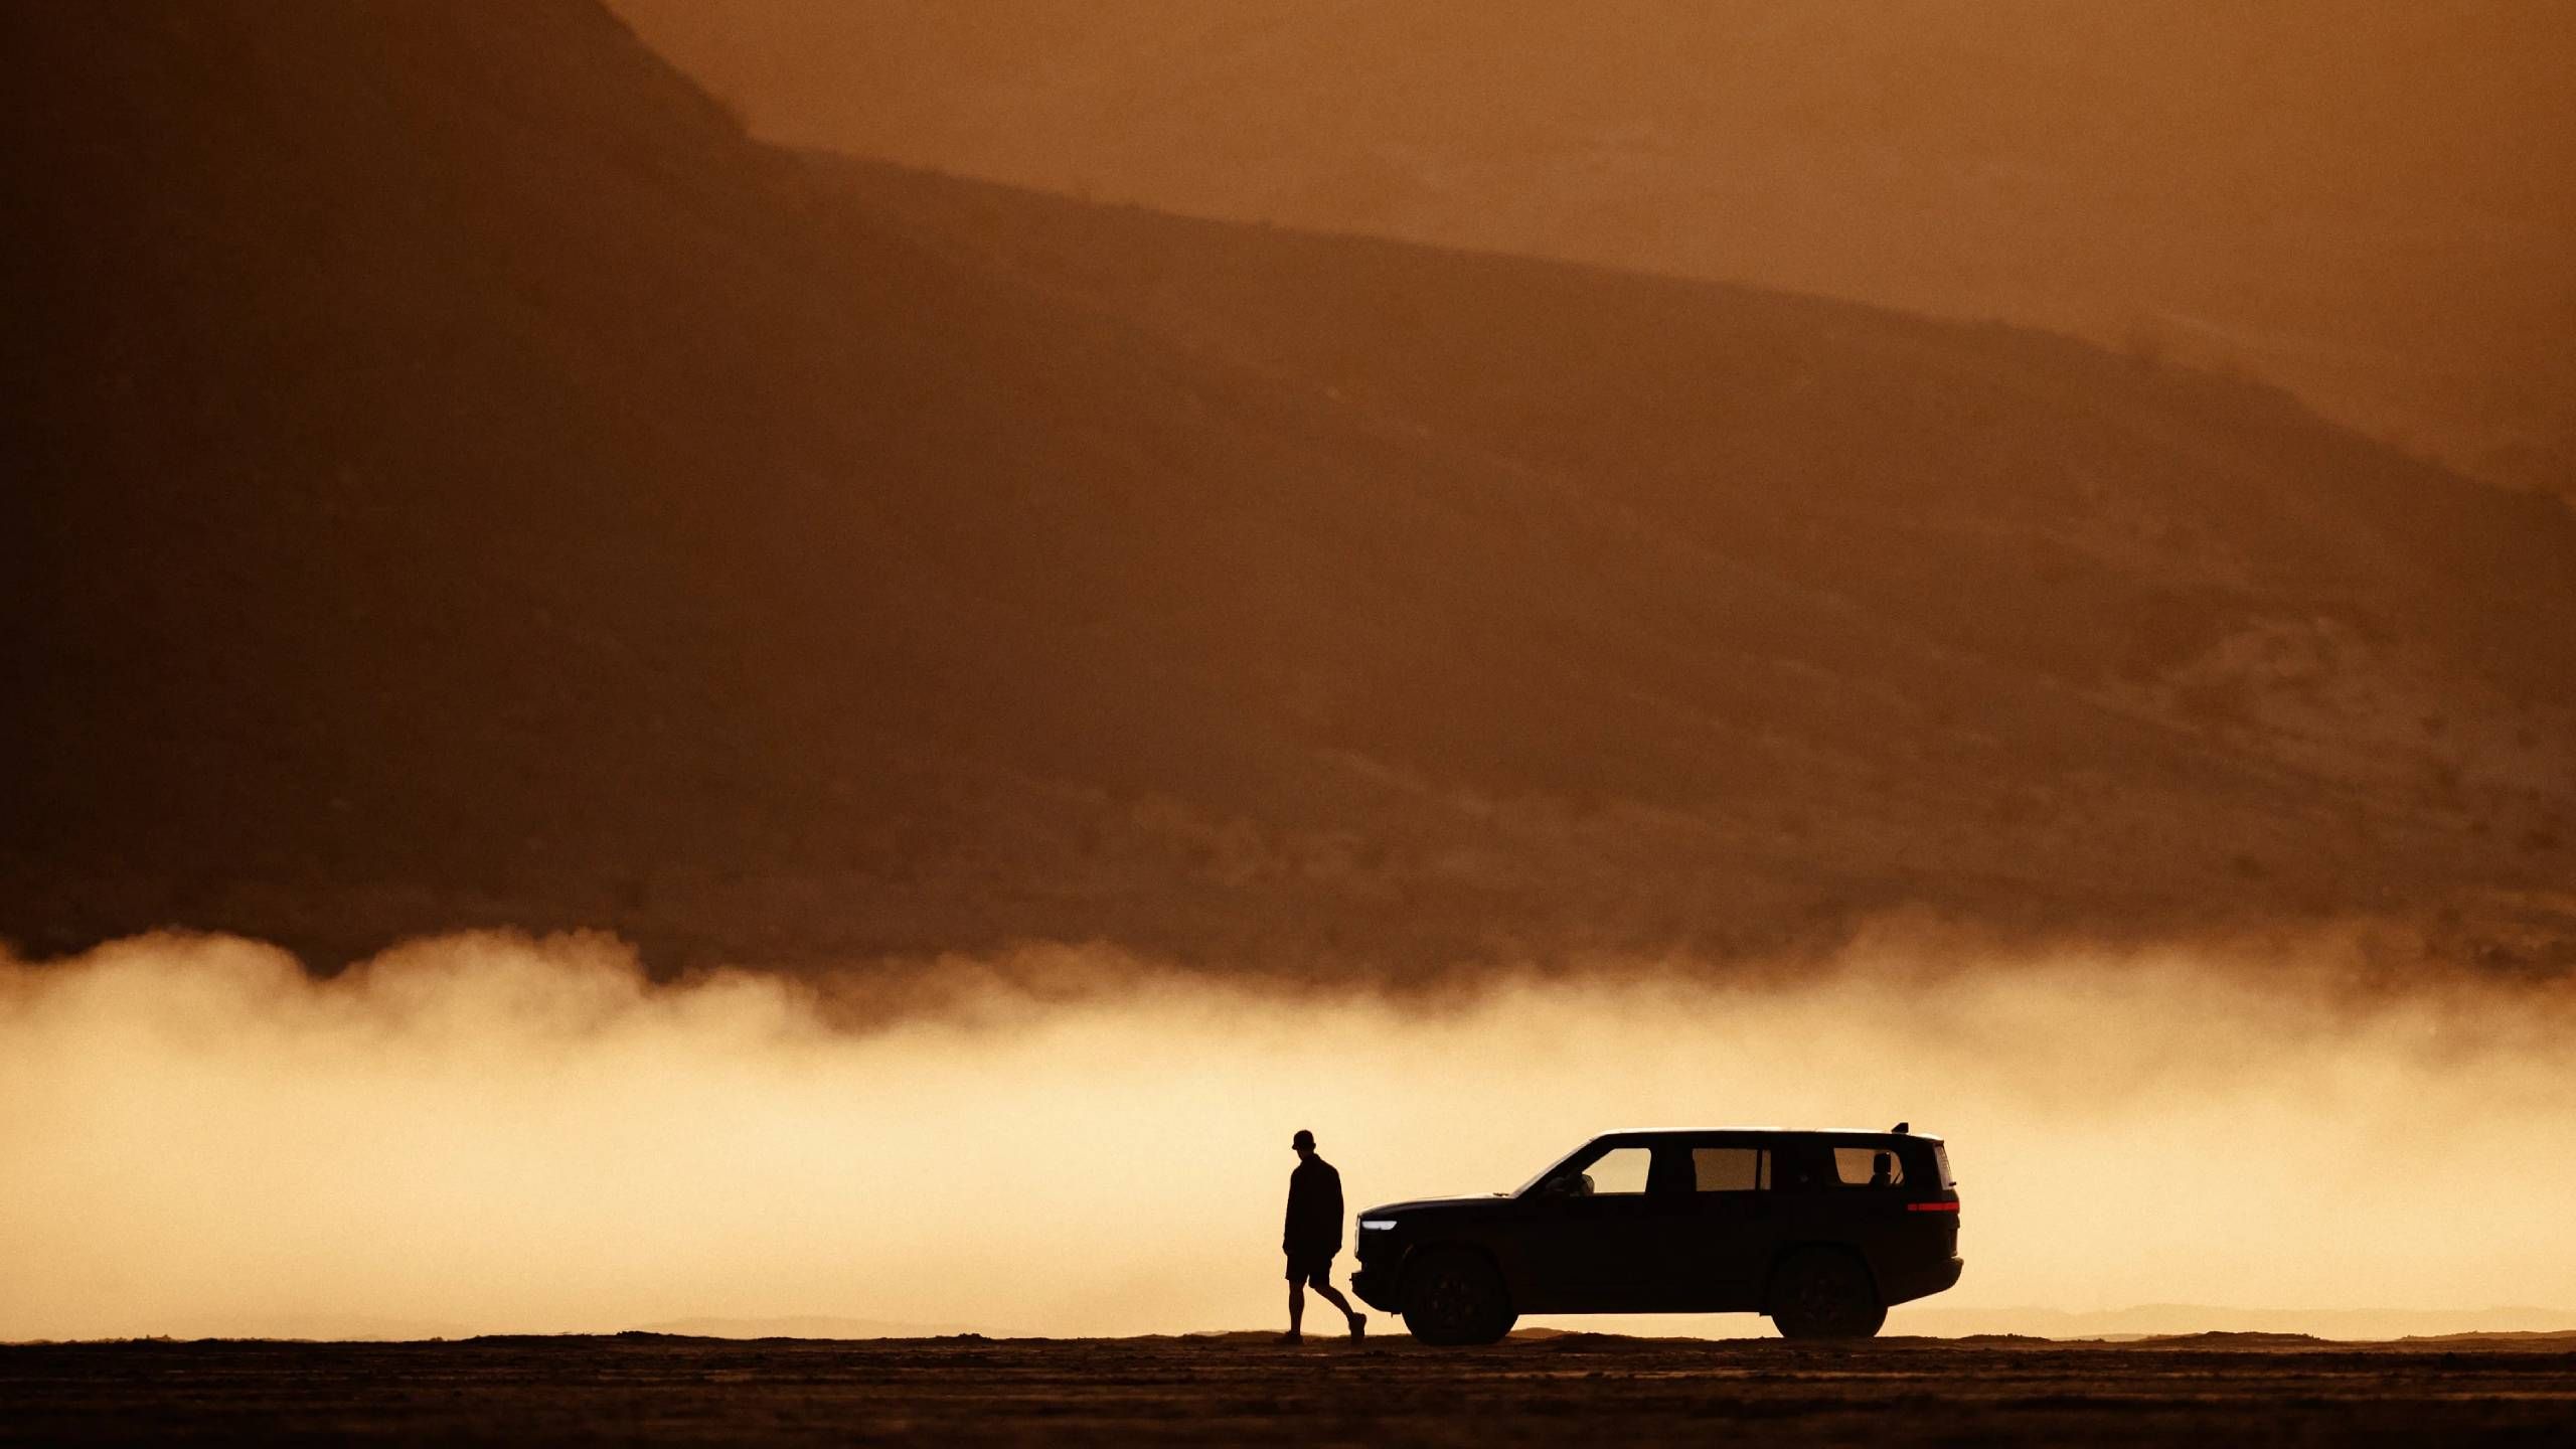
[[[2074,330],[2576,487],[2519,0],[616,0],[799,144]]]

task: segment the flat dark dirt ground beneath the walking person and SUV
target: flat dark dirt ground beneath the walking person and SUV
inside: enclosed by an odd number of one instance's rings
[[[1123,1341],[474,1338],[0,1348],[0,1441],[2566,1441],[2566,1336],[2324,1343],[1569,1333]]]

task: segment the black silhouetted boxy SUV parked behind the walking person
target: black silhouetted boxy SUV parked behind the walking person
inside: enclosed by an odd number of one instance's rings
[[[1958,1281],[1940,1137],[1610,1132],[1520,1191],[1360,1214],[1350,1287],[1414,1338],[1492,1343],[1522,1312],[1765,1312],[1788,1338],[1868,1338]]]

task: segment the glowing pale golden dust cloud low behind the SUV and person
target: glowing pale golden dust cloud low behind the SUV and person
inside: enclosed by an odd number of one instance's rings
[[[1945,1307],[2576,1305],[2568,982],[2254,954],[1927,967],[1896,933],[1427,1006],[1033,949],[889,1011],[881,972],[654,985],[590,936],[319,982],[134,938],[0,962],[0,1338],[1267,1325],[1296,1127],[1360,1209],[1605,1127],[1911,1119],[1965,1199]]]

